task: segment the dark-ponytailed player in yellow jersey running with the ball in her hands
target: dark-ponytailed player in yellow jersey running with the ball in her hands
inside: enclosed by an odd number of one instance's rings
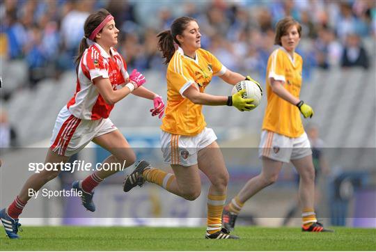
[[[246,79],[228,70],[210,52],[201,49],[201,33],[195,19],[175,19],[171,30],[159,33],[159,49],[166,58],[167,107],[162,123],[162,152],[171,164],[173,174],[140,162],[125,179],[124,190],[149,181],[167,191],[195,200],[201,194],[198,169],[212,183],[207,196],[207,239],[237,239],[221,228],[221,214],[226,200],[228,172],[213,130],[206,127],[203,105],[235,106],[241,111],[253,108],[251,99],[243,99],[242,91],[232,97],[204,93],[213,75],[235,85]]]

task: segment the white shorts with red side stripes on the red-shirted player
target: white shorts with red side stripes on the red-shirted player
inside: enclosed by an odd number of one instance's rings
[[[109,118],[80,119],[73,116],[64,106],[56,118],[49,148],[58,155],[70,157],[83,149],[95,137],[116,129]]]

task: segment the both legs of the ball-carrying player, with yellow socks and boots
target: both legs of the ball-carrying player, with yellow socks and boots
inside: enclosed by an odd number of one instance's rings
[[[212,143],[198,152],[198,165],[182,166],[171,165],[172,173],[166,173],[153,168],[146,161],[137,164],[136,169],[125,178],[124,191],[140,186],[144,181],[159,184],[167,191],[186,198],[195,200],[201,193],[201,179],[198,168],[203,171],[212,182],[210,186],[208,207],[208,230],[207,239],[237,239],[230,235],[227,230],[221,230],[221,212],[226,200],[228,172],[224,164],[221,150],[217,143]]]

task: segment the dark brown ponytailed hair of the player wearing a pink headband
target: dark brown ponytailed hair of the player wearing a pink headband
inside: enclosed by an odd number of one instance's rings
[[[95,30],[95,28],[97,28],[97,26],[99,26],[100,23],[102,23],[102,21],[108,15],[110,15],[108,10],[100,9],[97,12],[89,15],[88,18],[86,18],[86,21],[85,21],[85,24],[84,24],[85,36],[81,39],[81,42],[79,43],[77,56],[75,58],[75,64],[77,65],[76,66],[76,72],[77,73],[78,73],[78,70],[79,70],[79,61],[81,61],[82,55],[84,54],[85,50],[88,48],[88,42],[86,41],[86,38],[88,38],[91,35],[91,33]]]

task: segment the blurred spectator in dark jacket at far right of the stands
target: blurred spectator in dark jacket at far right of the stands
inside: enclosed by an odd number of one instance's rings
[[[363,45],[361,45],[360,38],[357,34],[353,33],[347,36],[341,66],[345,68],[360,66],[364,69],[368,69],[368,54]]]

